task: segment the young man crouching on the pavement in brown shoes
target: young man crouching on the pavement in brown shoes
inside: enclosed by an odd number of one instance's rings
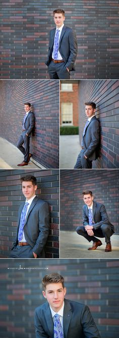
[[[92,191],[83,192],[83,226],[78,226],[77,233],[84,236],[88,242],[93,241],[93,246],[88,250],[96,250],[102,245],[97,237],[105,237],[105,252],[111,251],[110,236],[114,232],[114,226],[109,222],[105,206],[93,201]]]

